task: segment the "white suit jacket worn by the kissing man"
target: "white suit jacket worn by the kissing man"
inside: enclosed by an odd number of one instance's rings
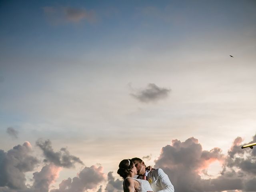
[[[142,176],[139,178],[142,179]],[[150,178],[152,179],[150,185],[154,192],[174,192],[172,182],[162,169],[151,170],[148,173],[148,180],[150,180]]]

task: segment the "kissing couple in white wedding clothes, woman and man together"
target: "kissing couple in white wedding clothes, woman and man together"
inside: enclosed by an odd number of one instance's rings
[[[140,158],[122,160],[117,173],[124,179],[124,192],[174,192],[168,175],[160,168],[146,167]]]

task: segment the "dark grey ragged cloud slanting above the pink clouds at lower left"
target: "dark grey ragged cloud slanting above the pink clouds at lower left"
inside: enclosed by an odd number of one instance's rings
[[[42,140],[37,140],[36,145],[43,150],[44,156],[46,157],[44,160],[45,162],[52,162],[56,166],[65,168],[74,167],[75,163],[84,165],[80,158],[70,155],[66,148],[61,148],[60,151],[54,152],[50,140],[44,142]]]

